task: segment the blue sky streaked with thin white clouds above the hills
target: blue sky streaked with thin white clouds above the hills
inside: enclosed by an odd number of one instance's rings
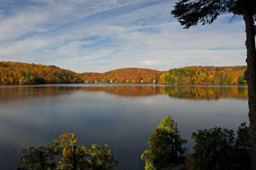
[[[169,70],[245,65],[241,16],[183,29],[171,0],[1,0],[0,61],[56,65],[78,73],[119,67]]]

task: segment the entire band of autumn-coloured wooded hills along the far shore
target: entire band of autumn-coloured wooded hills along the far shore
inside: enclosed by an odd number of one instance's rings
[[[190,66],[169,71],[125,68],[106,73],[75,73],[56,66],[0,62],[0,84],[50,83],[158,83],[158,84],[245,84],[246,66]]]

